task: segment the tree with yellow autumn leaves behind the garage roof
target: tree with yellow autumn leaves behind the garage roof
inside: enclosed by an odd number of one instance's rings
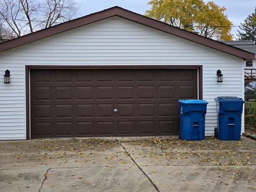
[[[233,23],[224,13],[226,8],[213,1],[203,0],[150,0],[151,9],[147,17],[169,23],[198,35],[216,39],[231,40]]]

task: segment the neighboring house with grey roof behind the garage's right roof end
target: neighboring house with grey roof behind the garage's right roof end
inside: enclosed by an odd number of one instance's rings
[[[256,44],[253,41],[239,40],[239,41],[221,41],[228,45],[235,46],[239,49],[256,54]],[[244,64],[246,69],[256,68],[256,55],[254,59],[246,60]]]

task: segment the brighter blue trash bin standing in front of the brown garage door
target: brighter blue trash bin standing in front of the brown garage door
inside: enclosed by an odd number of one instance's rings
[[[183,140],[204,140],[207,101],[179,100],[180,138]]]

